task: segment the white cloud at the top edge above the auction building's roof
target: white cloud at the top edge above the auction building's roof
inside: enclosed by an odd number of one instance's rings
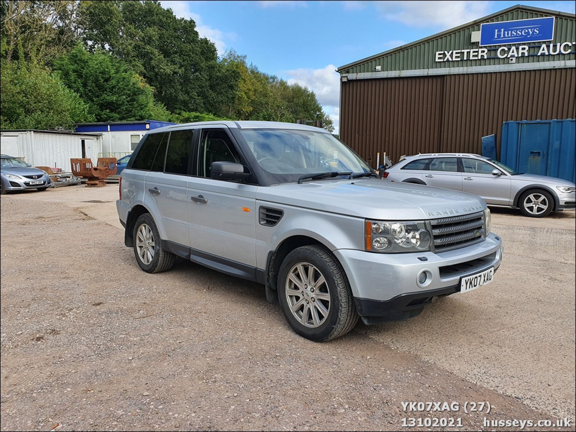
[[[378,1],[377,10],[386,20],[425,27],[451,28],[487,15],[490,1]]]

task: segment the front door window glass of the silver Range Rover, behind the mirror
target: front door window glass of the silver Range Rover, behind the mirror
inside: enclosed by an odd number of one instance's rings
[[[236,149],[226,132],[222,131],[222,129],[202,132],[199,147],[198,175],[210,178],[213,162],[240,163],[240,157]]]

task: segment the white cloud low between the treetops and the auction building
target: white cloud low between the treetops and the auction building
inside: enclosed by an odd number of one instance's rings
[[[283,71],[281,76],[287,81],[308,87],[314,93],[324,111],[332,117],[334,130],[338,133],[340,105],[340,75],[335,71],[334,64],[328,64],[320,69],[294,69]]]

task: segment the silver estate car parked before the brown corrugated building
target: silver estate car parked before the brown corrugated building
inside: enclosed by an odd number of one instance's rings
[[[438,186],[481,196],[495,207],[520,208],[525,216],[574,209],[575,184],[545,175],[516,173],[498,160],[475,154],[419,154],[388,168],[384,178]]]

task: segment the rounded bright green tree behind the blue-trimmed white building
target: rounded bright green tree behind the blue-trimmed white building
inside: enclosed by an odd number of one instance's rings
[[[110,53],[77,46],[54,63],[62,81],[80,95],[96,121],[167,120],[154,89]]]

